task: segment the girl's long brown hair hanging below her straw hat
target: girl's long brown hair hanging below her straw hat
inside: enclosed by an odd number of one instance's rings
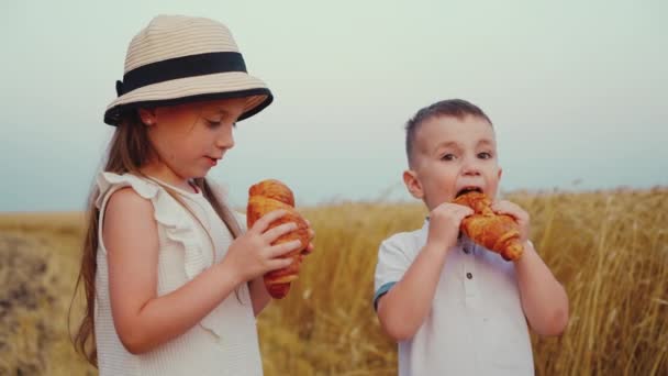
[[[134,174],[137,176],[144,176],[140,172],[140,168],[144,166],[149,158],[154,157],[155,153],[151,146],[148,140],[147,128],[144,125],[136,112],[127,113],[125,119],[118,125],[111,143],[109,145],[109,152],[107,162],[104,163],[104,172],[114,174]],[[159,183],[158,183],[159,184]],[[202,191],[202,195],[211,203],[218,215],[221,218],[233,239],[236,239],[241,234],[241,228],[234,213],[227,208],[222,198],[218,197],[211,186],[204,178],[194,179],[194,185]],[[179,195],[174,189],[162,185],[163,188],[177,200],[186,210],[188,210],[192,217],[197,217],[182,201]],[[86,215],[86,236],[82,244],[81,254],[81,266],[79,269],[79,276],[75,286],[73,300],[69,306],[69,317],[71,318],[71,308],[74,300],[80,290],[84,288],[84,295],[86,298],[86,306],[84,311],[84,318],[79,323],[76,333],[73,336],[73,342],[77,352],[81,353],[86,360],[97,367],[98,354],[94,341],[94,299],[96,299],[96,272],[97,272],[97,254],[98,254],[98,226],[100,210],[96,208],[96,201],[100,196],[100,190],[97,186],[93,186],[87,203],[87,215]],[[200,223],[201,224],[201,223]],[[69,320],[68,320],[69,328]]]

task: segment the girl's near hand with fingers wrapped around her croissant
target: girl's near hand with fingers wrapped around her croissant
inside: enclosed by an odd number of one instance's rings
[[[254,279],[267,272],[280,269],[292,263],[291,257],[280,258],[301,246],[298,240],[271,245],[281,235],[297,230],[297,223],[283,223],[267,230],[271,222],[287,214],[285,210],[275,210],[255,222],[253,228],[232,242],[221,265],[229,265],[237,274],[238,283]]]

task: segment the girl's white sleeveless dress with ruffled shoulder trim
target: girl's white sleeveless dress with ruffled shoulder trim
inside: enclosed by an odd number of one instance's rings
[[[130,174],[101,173],[97,183],[100,188],[96,202],[100,209],[100,241],[94,331],[100,375],[261,375],[257,329],[247,284],[242,284],[237,289],[238,299],[231,294],[199,324],[172,341],[138,355],[125,350],[114,330],[111,314],[107,251],[101,230],[111,195],[120,188],[132,187],[141,197],[153,202],[159,237],[158,296],[178,289],[219,263],[233,239],[201,192],[188,192],[169,186],[207,226],[214,246],[202,226],[156,181]],[[224,200],[222,188],[213,186],[213,189]],[[245,217],[238,214],[237,221],[245,231]]]

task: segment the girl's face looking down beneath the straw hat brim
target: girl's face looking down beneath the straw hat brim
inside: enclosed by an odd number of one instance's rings
[[[185,188],[188,180],[207,176],[234,146],[232,130],[245,104],[246,98],[235,98],[141,109],[157,154],[143,172]]]

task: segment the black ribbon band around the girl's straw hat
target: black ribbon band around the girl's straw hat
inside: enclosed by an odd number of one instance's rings
[[[246,71],[246,64],[242,54],[218,52],[175,57],[146,64],[127,71],[123,75],[122,81],[116,81],[116,95],[121,97],[141,87],[172,79],[227,71]]]

